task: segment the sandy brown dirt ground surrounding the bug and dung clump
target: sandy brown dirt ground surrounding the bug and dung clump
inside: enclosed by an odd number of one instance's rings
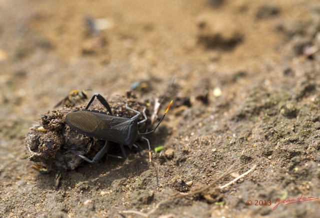
[[[319,49],[318,0],[0,0],[0,217],[316,217]],[[141,81],[159,115],[174,101],[151,163],[139,141],[57,189],[30,167],[29,128],[69,91]]]

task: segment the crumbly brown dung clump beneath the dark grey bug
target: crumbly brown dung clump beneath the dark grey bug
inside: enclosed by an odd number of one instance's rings
[[[149,101],[138,100],[132,93],[126,97],[115,96],[109,99],[108,103],[113,115],[117,117],[130,118],[134,115],[131,111],[126,110],[126,105],[137,111],[146,109],[146,116],[148,118],[150,116]],[[105,141],[78,134],[65,123],[67,113],[85,109],[86,105],[85,103],[78,107],[64,107],[42,114],[40,125],[31,127],[26,135],[25,143],[28,159],[46,167],[47,171],[66,171],[78,167],[83,160],[71,153],[70,149],[92,159],[103,147]],[[108,114],[106,108],[98,101],[94,101],[88,109]],[[140,119],[142,120],[143,117],[141,116]],[[148,119],[147,122],[139,126],[139,131],[146,131],[149,125]]]

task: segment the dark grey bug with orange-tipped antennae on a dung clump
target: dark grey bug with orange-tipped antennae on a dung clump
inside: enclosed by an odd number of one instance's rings
[[[95,97],[107,109],[110,115],[100,111],[88,109]],[[140,112],[133,110],[132,108],[129,108],[127,106],[125,107],[127,110],[136,113],[133,117],[124,118],[113,116],[108,102],[99,93],[96,93],[92,96],[91,100],[86,105],[84,110],[76,110],[66,114],[65,123],[79,134],[85,135],[90,138],[104,140],[104,146],[100,151],[98,151],[98,153],[93,157],[92,160],[81,155],[79,152],[73,149],[69,149],[69,151],[89,163],[94,163],[101,159],[101,157],[106,153],[108,148],[108,141],[111,141],[119,144],[121,152],[123,154],[123,157],[120,158],[125,158],[126,154],[124,145],[128,146],[130,149],[133,145],[136,145],[140,150],[142,150],[142,147],[135,141],[137,141],[138,139],[143,139],[148,144],[149,161],[151,162],[150,143],[147,138],[143,137],[143,135],[152,133],[156,130],[156,128],[159,126],[164,116],[168,112],[171,104],[172,101],[170,102],[162,118],[153,130],[140,133],[138,131],[138,126],[147,120],[144,110],[142,111],[144,119],[141,121],[138,121]],[[111,156],[109,154],[107,155]]]

